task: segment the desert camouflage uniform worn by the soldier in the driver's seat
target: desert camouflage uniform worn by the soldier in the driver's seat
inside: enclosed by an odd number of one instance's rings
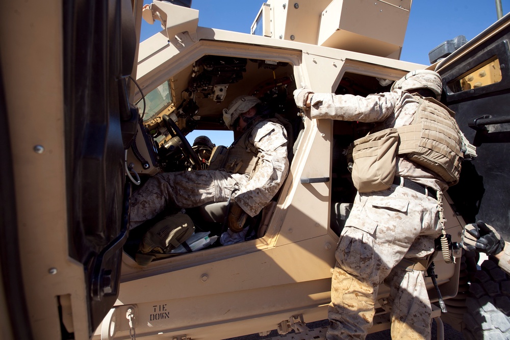
[[[130,228],[156,217],[167,206],[189,208],[227,201],[234,190],[239,206],[248,215],[257,215],[287,176],[287,133],[282,125],[270,121],[260,121],[245,133],[250,134],[248,143],[259,155],[259,163],[251,175],[222,170],[158,174],[133,194]]]

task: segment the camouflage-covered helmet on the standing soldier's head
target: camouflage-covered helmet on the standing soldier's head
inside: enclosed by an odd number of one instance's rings
[[[441,76],[431,70],[414,70],[402,78],[397,80],[391,86],[391,90],[416,90],[416,89],[429,89],[436,94],[436,99],[441,98],[441,91],[443,90],[443,82]]]

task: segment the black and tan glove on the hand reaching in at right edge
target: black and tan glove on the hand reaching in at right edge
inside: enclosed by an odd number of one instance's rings
[[[479,251],[489,255],[500,253],[505,246],[503,238],[483,221],[471,223],[462,232],[462,247],[468,251]]]

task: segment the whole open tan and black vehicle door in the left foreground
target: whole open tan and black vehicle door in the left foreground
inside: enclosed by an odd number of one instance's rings
[[[0,7],[3,338],[86,339],[118,295],[142,3]]]

